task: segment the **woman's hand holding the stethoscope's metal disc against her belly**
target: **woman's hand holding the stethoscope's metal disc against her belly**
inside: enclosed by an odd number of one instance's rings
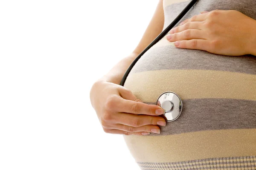
[[[90,99],[106,133],[147,135],[160,133],[157,125],[166,125],[159,116],[163,108],[141,102],[121,85],[98,81],[90,91]]]

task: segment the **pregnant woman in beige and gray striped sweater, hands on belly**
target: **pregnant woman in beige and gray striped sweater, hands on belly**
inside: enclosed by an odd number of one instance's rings
[[[255,0],[198,0],[119,85],[188,3],[159,1],[137,48],[94,83],[93,108],[106,133],[124,135],[142,170],[255,170]],[[183,101],[173,122],[155,105],[166,91]]]

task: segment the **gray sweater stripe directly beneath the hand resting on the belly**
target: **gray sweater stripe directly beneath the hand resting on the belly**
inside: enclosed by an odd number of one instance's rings
[[[168,45],[149,49],[134,65],[131,74],[166,69],[232,71],[256,75],[256,56],[224,56]]]

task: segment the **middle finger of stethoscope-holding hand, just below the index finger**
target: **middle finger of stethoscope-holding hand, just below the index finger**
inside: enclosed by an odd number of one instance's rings
[[[119,118],[117,119],[117,117]],[[115,123],[132,126],[132,127],[140,127],[145,125],[160,125],[160,126],[166,125],[165,119],[160,116],[117,113],[113,115],[113,119],[116,120]]]

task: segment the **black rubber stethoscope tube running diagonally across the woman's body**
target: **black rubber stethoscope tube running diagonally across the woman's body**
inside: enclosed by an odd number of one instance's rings
[[[149,48],[151,48],[153,45],[155,45],[158,41],[160,41],[183,17],[184,15],[192,8],[193,5],[195,5],[195,3],[198,0],[192,0],[187,6],[186,8],[183,9],[183,11],[175,18],[175,20],[172,21],[172,23],[170,23],[170,25],[168,27],[166,27],[165,30],[163,30],[135,59],[134,61],[131,63],[131,65],[129,66],[129,68],[127,69],[127,71],[125,72],[122,81],[120,83],[120,85],[124,86],[125,84],[125,80],[128,77],[128,74],[130,73],[131,69],[133,68],[133,66],[136,64],[136,62],[140,59],[140,57],[146,52],[148,51]]]

